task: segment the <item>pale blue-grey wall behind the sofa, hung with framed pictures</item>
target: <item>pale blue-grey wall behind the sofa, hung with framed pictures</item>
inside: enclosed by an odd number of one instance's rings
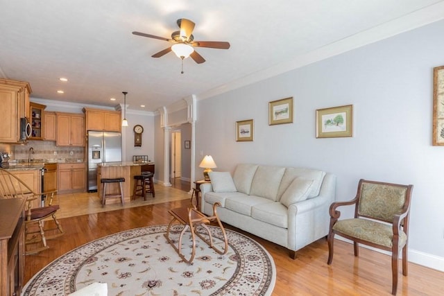
[[[254,162],[334,173],[336,200],[354,198],[360,178],[413,184],[409,259],[444,270],[444,147],[431,144],[432,69],[444,65],[443,32],[438,21],[198,101],[196,175],[210,154],[217,171]],[[289,96],[294,123],[268,125],[268,102]],[[316,110],[348,104],[354,137],[316,139]],[[235,141],[235,122],[244,119],[255,121],[253,142]]]

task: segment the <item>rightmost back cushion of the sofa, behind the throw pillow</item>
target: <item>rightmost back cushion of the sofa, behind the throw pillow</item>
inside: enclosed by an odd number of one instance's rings
[[[314,198],[319,195],[319,191],[321,191],[321,185],[324,180],[325,172],[314,170],[311,168],[286,168],[284,176],[282,177],[282,181],[280,182],[280,187],[278,191],[278,199],[282,198],[282,194],[287,190],[288,186],[290,186],[291,182],[296,177],[304,177],[307,180],[313,180],[313,186],[311,187],[311,191],[308,195],[308,198]]]

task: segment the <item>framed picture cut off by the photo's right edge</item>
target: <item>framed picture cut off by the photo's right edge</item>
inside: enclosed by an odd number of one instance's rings
[[[433,146],[444,146],[444,66],[433,69]]]

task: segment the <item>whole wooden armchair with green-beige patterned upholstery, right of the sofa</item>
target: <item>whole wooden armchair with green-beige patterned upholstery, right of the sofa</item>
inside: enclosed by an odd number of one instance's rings
[[[357,195],[348,202],[330,206],[330,232],[327,236],[328,261],[333,260],[334,235],[353,241],[355,256],[358,243],[391,252],[392,290],[398,288],[398,260],[402,249],[402,275],[407,275],[407,245],[409,239],[409,209],[413,185],[401,185],[359,180]],[[355,205],[355,218],[338,220],[336,208]]]

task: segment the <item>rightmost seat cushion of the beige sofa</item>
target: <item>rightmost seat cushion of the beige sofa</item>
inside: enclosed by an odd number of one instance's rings
[[[252,207],[251,217],[271,225],[288,228],[287,212],[287,207],[280,202],[267,202]]]

